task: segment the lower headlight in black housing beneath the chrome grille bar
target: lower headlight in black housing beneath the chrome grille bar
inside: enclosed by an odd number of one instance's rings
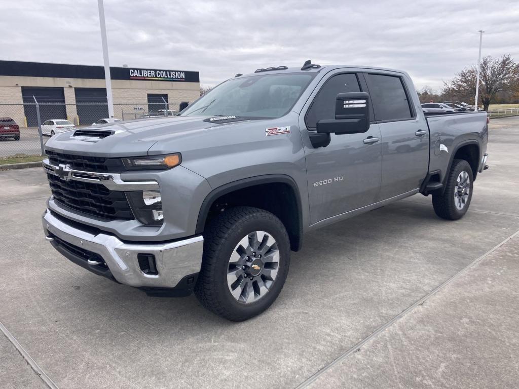
[[[164,221],[159,190],[126,192],[133,214],[142,224],[160,226]]]

